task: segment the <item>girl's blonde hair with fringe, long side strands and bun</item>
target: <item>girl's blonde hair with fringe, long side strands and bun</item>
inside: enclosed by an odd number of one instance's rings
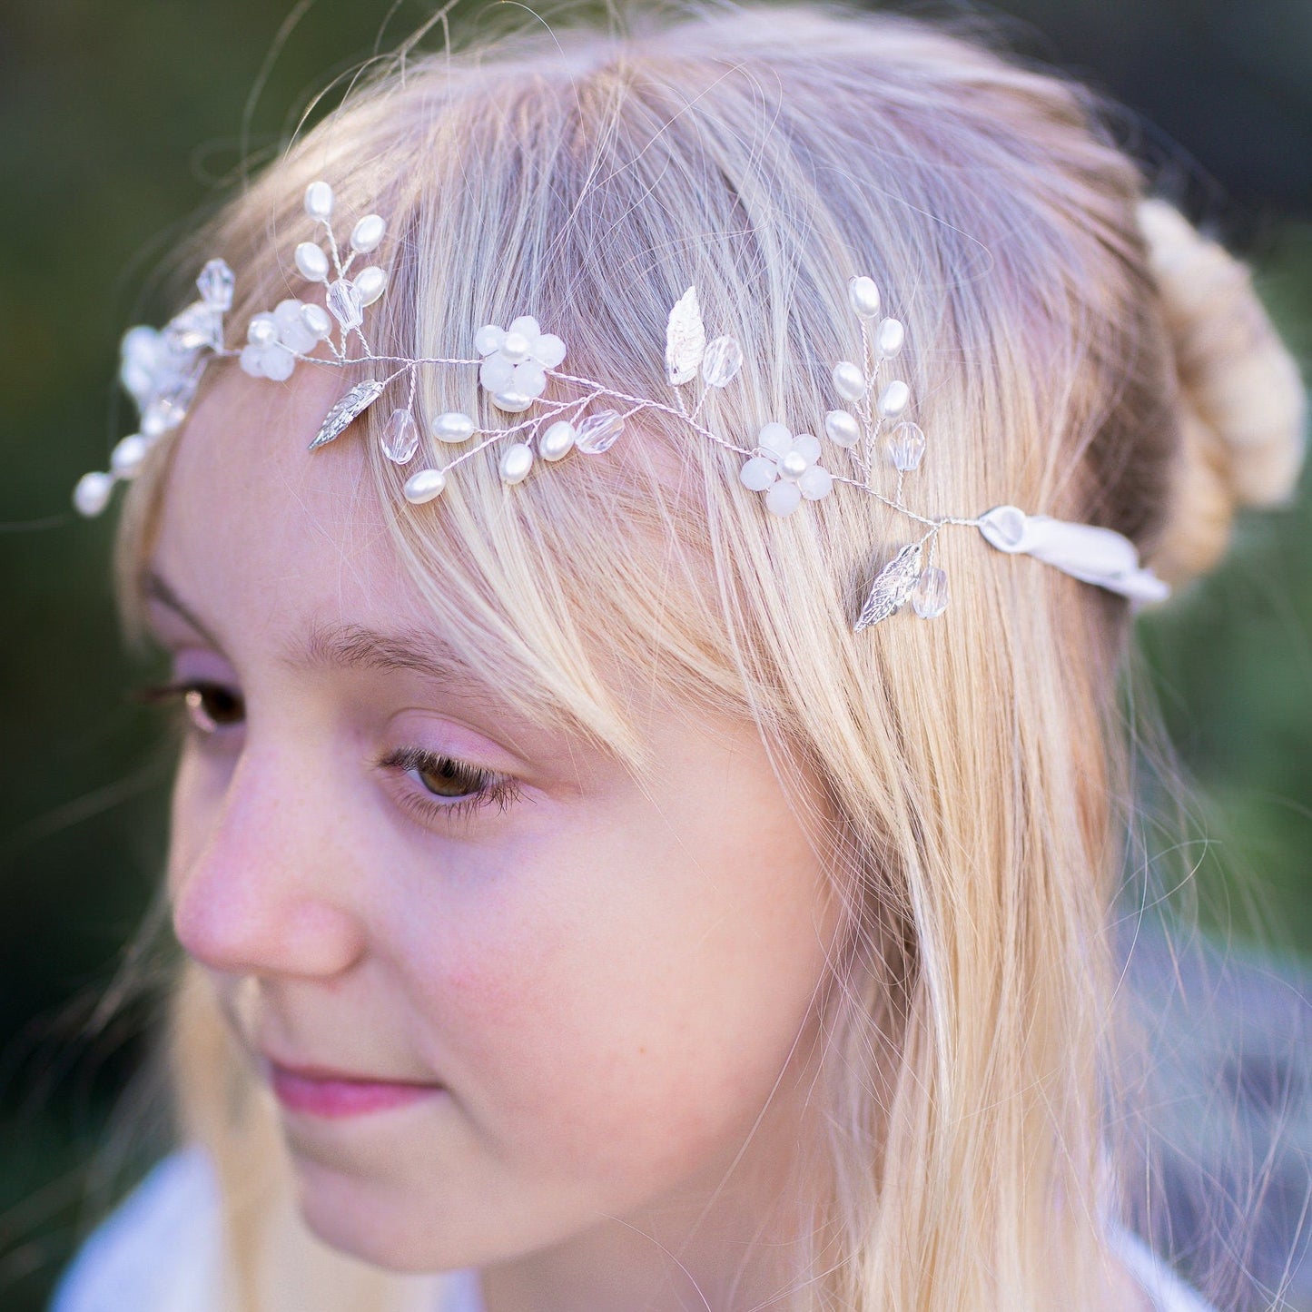
[[[1144,199],[1089,93],[921,22],[722,7],[411,52],[188,248],[237,270],[231,323],[289,294],[316,177],[390,219],[379,349],[450,354],[533,312],[575,373],[660,396],[664,316],[695,282],[745,352],[710,413],[727,433],[817,421],[854,345],[848,278],[871,274],[908,327],[925,514],[1106,525],[1178,585],[1236,502],[1287,497],[1299,467],[1300,384],[1241,266]],[[421,398],[480,405],[457,378]],[[1109,929],[1134,811],[1124,600],[949,529],[945,615],[853,634],[871,565],[907,541],[874,499],[774,520],[737,458],[649,415],[606,458],[506,489],[493,450],[412,508],[379,422],[346,440],[417,600],[526,710],[643,769],[605,653],[754,716],[827,782],[854,966],[834,963],[829,1187],[787,1305],[1105,1307],[1138,1151],[1111,1114],[1131,1097]],[[169,453],[125,508],[130,619]],[[300,1224],[272,1109],[190,966],[167,1052],[178,1132],[218,1164],[234,1308],[422,1292]]]

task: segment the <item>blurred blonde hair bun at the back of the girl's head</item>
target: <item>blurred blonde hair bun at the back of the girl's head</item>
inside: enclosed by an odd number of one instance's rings
[[[1174,345],[1183,446],[1151,563],[1179,585],[1221,558],[1237,506],[1292,497],[1305,394],[1248,268],[1166,201],[1141,201],[1139,224]]]

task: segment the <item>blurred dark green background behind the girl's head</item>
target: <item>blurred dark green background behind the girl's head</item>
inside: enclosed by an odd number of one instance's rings
[[[491,8],[458,10],[457,31]],[[502,7],[502,13],[509,7]],[[907,8],[907,7],[904,7]],[[45,1304],[80,1237],[92,1152],[146,1056],[148,1002],[81,1031],[161,869],[160,720],[126,691],[108,586],[113,514],[70,510],[131,412],[118,338],[174,307],[151,272],[245,156],[329,76],[430,7],[387,0],[8,0],[0,9],[0,1307]],[[916,5],[1000,26],[1132,110],[1127,144],[1253,262],[1312,353],[1312,0]],[[268,73],[266,81],[261,79]],[[249,102],[249,104],[248,104]],[[1190,858],[1220,938],[1312,949],[1312,506],[1246,513],[1227,564],[1143,649],[1210,811]],[[1219,858],[1219,859],[1216,859]],[[130,1148],[133,1161],[152,1145]],[[135,1155],[135,1156],[133,1156]]]

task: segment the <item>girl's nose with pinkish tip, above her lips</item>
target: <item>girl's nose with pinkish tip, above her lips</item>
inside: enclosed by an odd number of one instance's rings
[[[226,778],[185,757],[173,792],[173,932],[216,971],[328,979],[365,950],[341,798],[248,745]]]

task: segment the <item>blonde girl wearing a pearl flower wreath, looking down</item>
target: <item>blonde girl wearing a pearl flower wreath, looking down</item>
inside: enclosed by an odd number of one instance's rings
[[[1090,97],[820,9],[411,54],[185,262],[77,491],[188,723],[178,1151],[59,1312],[1206,1307],[1118,686],[1302,392]]]

